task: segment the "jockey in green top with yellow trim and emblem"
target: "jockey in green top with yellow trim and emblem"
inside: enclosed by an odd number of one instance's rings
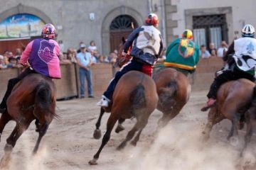
[[[193,40],[191,30],[185,30],[182,38],[177,38],[171,42],[166,51],[165,67],[172,67],[185,75],[196,70],[199,61],[200,51],[198,45]]]

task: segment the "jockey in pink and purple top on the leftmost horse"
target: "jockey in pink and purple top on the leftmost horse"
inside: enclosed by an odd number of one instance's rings
[[[31,73],[43,74],[46,77],[60,79],[60,47],[55,38],[55,27],[48,23],[43,26],[42,38],[32,40],[21,55],[21,64],[27,67],[18,77],[10,79],[6,94],[0,104],[0,113],[6,110],[6,101],[14,85]],[[28,65],[29,62],[29,65]]]

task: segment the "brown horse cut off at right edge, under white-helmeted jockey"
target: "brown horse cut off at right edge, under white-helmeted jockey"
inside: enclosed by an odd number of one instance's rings
[[[252,125],[255,123],[256,100],[252,100],[255,97],[255,84],[247,79],[228,81],[220,86],[216,104],[213,108],[210,108],[208,113],[208,123],[203,130],[204,139],[208,140],[210,137],[213,125],[228,118],[232,121],[232,128],[227,139],[230,140],[230,137],[235,135],[234,139],[237,140],[238,129],[242,129],[246,121],[247,133],[245,135],[245,145],[242,149],[243,152],[250,141]]]

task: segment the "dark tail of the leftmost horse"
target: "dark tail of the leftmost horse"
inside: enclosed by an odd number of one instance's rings
[[[53,117],[58,118],[58,115],[55,111],[52,111],[51,104],[52,101],[52,92],[50,89],[50,85],[46,81],[40,81],[39,84],[35,88],[35,108],[40,108],[41,111],[47,111],[52,114]]]

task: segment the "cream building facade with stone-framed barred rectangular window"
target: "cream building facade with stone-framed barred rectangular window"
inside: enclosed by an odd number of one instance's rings
[[[169,29],[168,42],[181,36],[183,30],[191,29],[198,45],[215,43],[221,40],[232,42],[240,37],[241,29],[250,23],[256,27],[255,0],[166,0],[171,4],[167,13],[166,25]]]

